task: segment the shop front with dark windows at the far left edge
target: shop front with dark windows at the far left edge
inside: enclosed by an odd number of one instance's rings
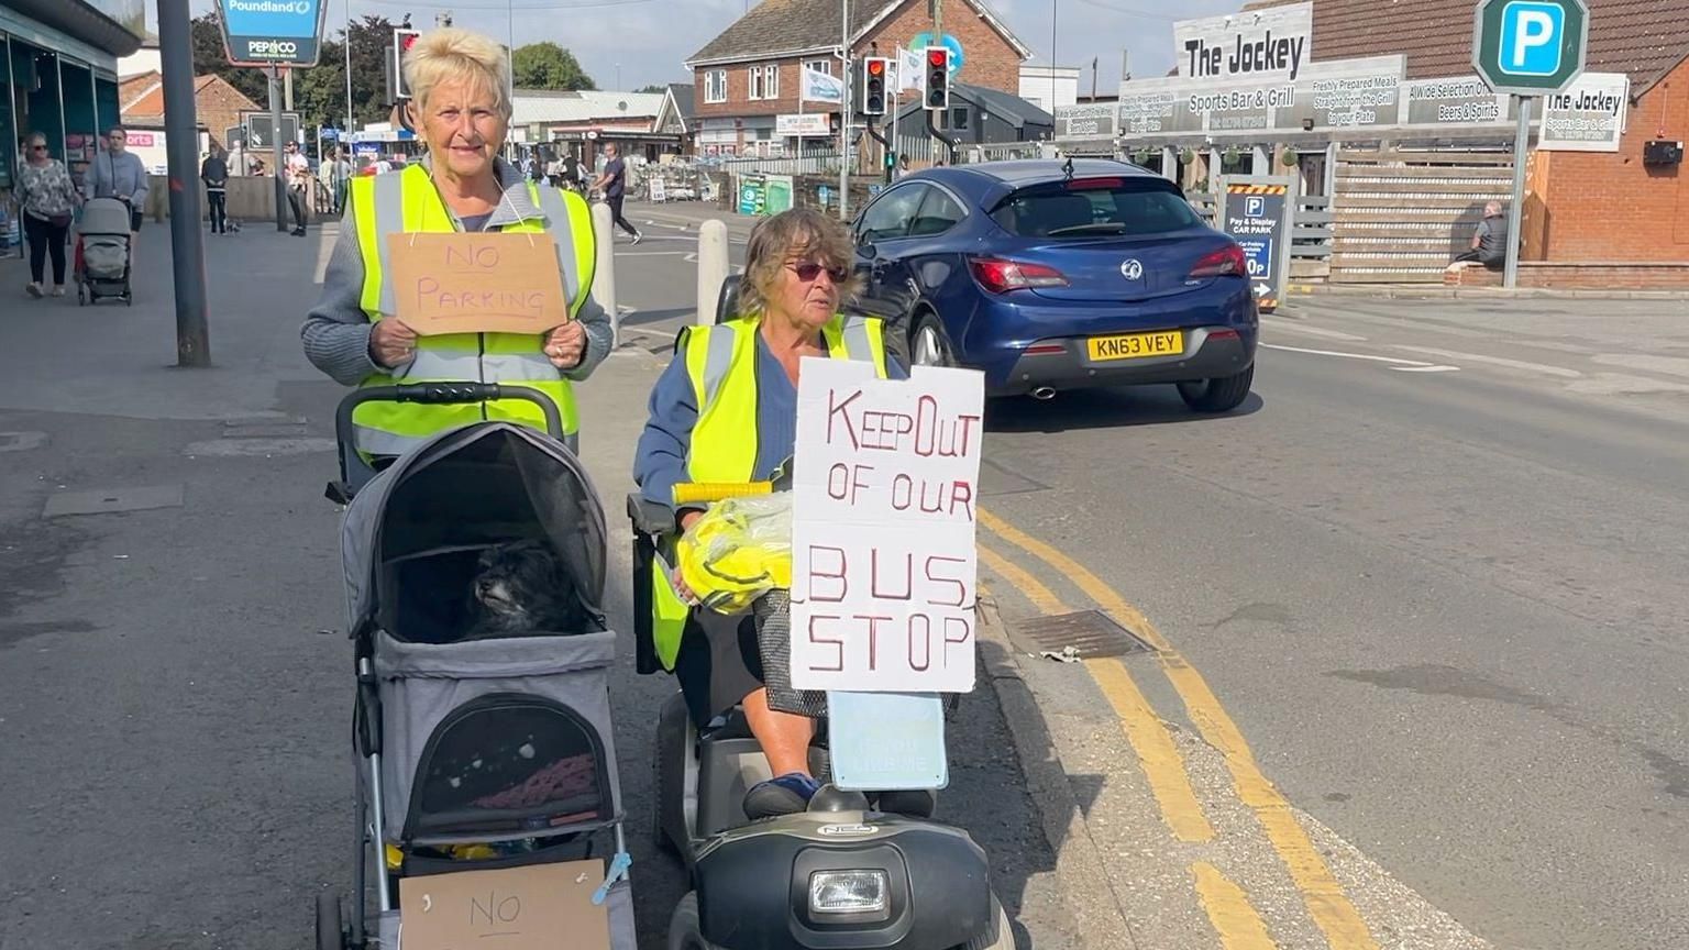
[[[0,0],[0,245],[19,254],[12,183],[25,135],[81,184],[118,122],[117,59],[140,47],[144,0]]]

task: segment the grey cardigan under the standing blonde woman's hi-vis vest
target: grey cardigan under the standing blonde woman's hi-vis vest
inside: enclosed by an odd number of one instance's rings
[[[422,159],[429,167],[429,159]],[[530,218],[542,218],[544,213],[534,205],[527,181],[522,172],[503,159],[495,159],[498,183],[505,189],[503,201],[486,220],[486,228],[513,225]],[[402,172],[387,172],[402,174]],[[456,221],[456,215],[453,215]],[[461,221],[459,221],[461,227]],[[595,281],[596,284],[596,281]],[[346,215],[339,221],[339,238],[328,260],[328,272],[323,276],[323,296],[306,316],[306,325],[299,335],[304,338],[306,358],[323,370],[334,382],[358,385],[373,374],[387,372],[370,358],[370,316],[363,313],[363,254],[358,250],[358,223],[353,220],[353,205],[346,203]],[[596,296],[596,286],[589,287],[586,301],[576,316],[586,330],[586,350],[581,363],[571,370],[559,370],[559,375],[571,380],[583,380],[593,375],[610,355],[613,328],[610,314]]]

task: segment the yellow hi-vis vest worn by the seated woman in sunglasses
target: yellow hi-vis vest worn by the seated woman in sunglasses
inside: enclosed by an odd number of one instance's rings
[[[758,318],[681,331],[674,347],[686,360],[698,401],[698,423],[686,450],[691,482],[750,482],[757,468],[757,333]],[[877,318],[834,314],[821,335],[834,360],[865,360],[885,379],[885,328]],[[687,605],[669,581],[672,548],[659,551],[652,570],[652,639],[664,669],[674,669],[686,631]]]

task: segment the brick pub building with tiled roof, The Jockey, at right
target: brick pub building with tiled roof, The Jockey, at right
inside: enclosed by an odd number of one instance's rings
[[[1527,164],[1520,281],[1686,287],[1689,171],[1645,162],[1643,150],[1648,142],[1689,140],[1689,0],[1586,3],[1586,69],[1628,76],[1625,125],[1616,150],[1583,152],[1539,147],[1537,123]],[[1469,74],[1471,19],[1473,0],[1395,0],[1388,15],[1378,14],[1375,0],[1312,0],[1312,63],[1400,54],[1407,81]],[[1537,103],[1540,118],[1542,100]],[[1512,130],[1493,134],[1490,142],[1474,135],[1464,145],[1510,150]]]

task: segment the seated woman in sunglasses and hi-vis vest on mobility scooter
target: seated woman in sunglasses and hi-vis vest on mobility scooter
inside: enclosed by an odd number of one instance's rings
[[[772,478],[797,438],[797,377],[804,357],[872,362],[880,377],[902,379],[887,358],[882,325],[843,316],[853,291],[850,235],[819,211],[799,208],[757,225],[745,259],[738,308],[718,326],[689,328],[650,396],[633,478],[640,494],[672,505],[687,482]],[[676,510],[681,531],[701,507]],[[654,639],[674,671],[699,729],[743,705],[762,744],[770,781],[745,798],[752,818],[802,811],[817,783],[809,767],[816,720],[784,686],[784,671],[763,669],[750,614],[687,610],[696,598],[667,570],[657,571]],[[763,674],[775,680],[763,683]]]

